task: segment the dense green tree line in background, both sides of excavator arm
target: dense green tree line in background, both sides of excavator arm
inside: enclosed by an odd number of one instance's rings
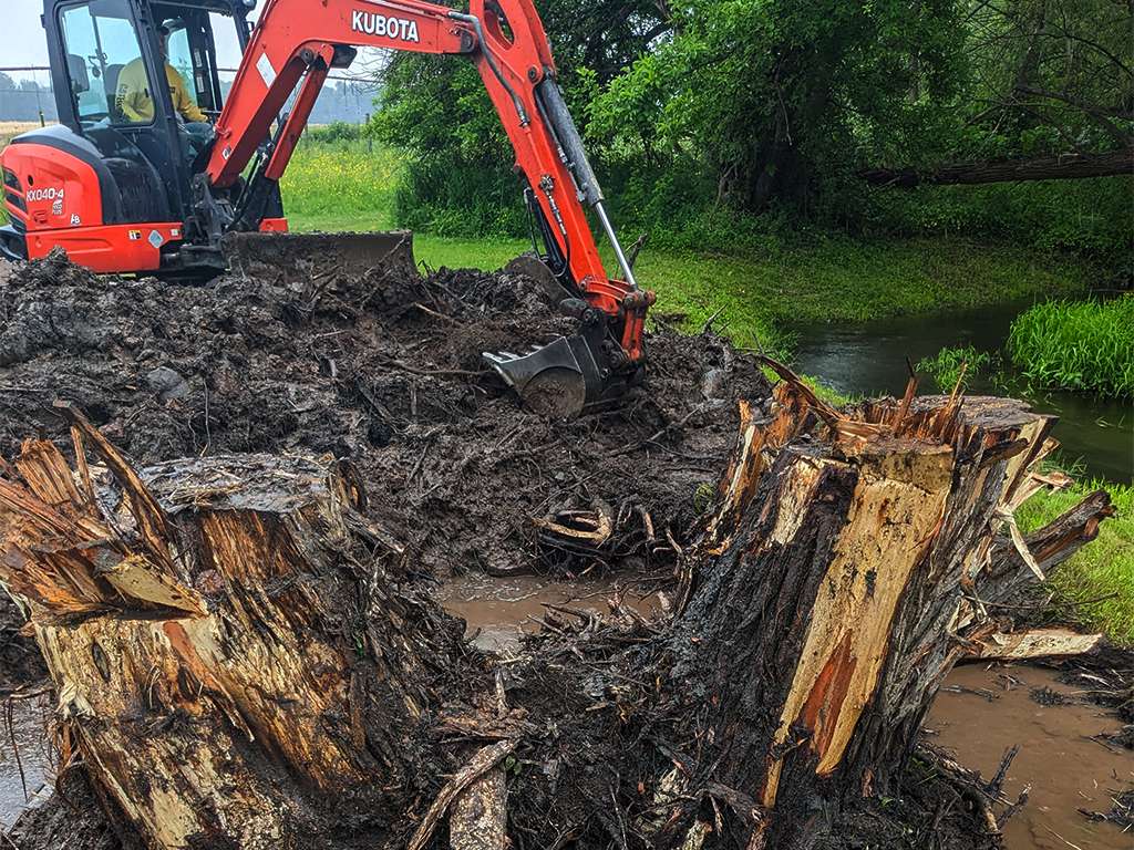
[[[821,218],[864,182],[1134,170],[1126,0],[536,6],[590,150],[638,206]],[[475,207],[492,181],[459,175],[511,164],[473,69],[445,58],[393,58],[373,130],[412,155],[408,213]]]

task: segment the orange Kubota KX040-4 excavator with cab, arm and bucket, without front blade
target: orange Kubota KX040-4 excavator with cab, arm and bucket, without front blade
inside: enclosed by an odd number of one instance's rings
[[[531,0],[469,0],[468,12],[424,0],[268,0],[253,26],[255,5],[44,0],[60,124],[0,154],[11,220],[0,250],[35,260],[61,247],[103,273],[217,274],[234,241],[287,230],[279,179],[331,70],[349,67],[361,46],[463,56],[526,178],[541,258],[566,290],[561,307],[579,321],[573,337],[484,357],[525,401],[555,415],[617,398],[641,373],[653,294],[638,289],[618,243]],[[226,19],[243,51],[227,96],[212,28]],[[185,122],[169,67],[212,127]],[[584,204],[621,279],[606,273]]]

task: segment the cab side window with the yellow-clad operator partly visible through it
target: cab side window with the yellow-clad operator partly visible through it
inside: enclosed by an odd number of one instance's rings
[[[153,91],[127,0],[92,0],[65,8],[60,28],[79,122],[83,126],[152,122],[152,100],[149,113],[145,109],[124,108],[122,85],[128,84],[130,91],[126,93],[133,94],[134,100],[149,97]]]

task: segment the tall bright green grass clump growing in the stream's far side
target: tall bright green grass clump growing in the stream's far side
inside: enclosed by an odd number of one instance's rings
[[[1008,354],[1038,383],[1134,397],[1134,295],[1038,304],[1012,323]]]

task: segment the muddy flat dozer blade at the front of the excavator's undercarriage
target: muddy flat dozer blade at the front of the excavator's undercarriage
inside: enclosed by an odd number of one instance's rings
[[[347,274],[371,269],[414,269],[414,235],[409,230],[384,233],[226,233],[225,260],[235,271],[257,265],[338,266]]]

